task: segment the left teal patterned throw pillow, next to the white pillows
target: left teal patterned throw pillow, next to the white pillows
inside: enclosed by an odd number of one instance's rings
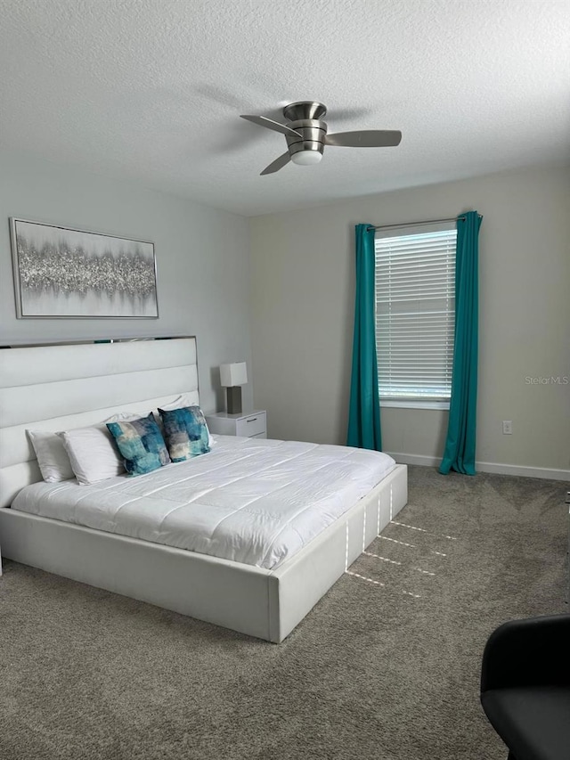
[[[107,422],[130,475],[145,475],[170,462],[167,445],[152,416],[140,420]]]

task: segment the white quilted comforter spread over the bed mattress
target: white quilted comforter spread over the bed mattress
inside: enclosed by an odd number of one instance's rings
[[[346,446],[216,438],[209,454],[149,475],[26,486],[12,509],[270,569],[395,466]]]

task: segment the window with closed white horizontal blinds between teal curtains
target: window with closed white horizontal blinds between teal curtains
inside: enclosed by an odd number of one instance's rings
[[[380,399],[446,402],[452,392],[457,230],[376,236]]]

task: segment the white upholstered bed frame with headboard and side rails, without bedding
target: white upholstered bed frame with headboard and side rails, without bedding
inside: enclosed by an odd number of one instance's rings
[[[194,338],[0,350],[0,546],[5,558],[281,642],[407,502],[397,465],[333,525],[275,570],[218,560],[9,508],[41,480],[26,429],[148,413],[181,393],[199,404]]]

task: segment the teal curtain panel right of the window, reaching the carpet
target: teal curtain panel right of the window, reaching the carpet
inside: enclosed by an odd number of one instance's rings
[[[476,211],[468,211],[457,220],[452,398],[444,459],[439,466],[443,475],[450,470],[475,475],[478,258],[482,218]]]

